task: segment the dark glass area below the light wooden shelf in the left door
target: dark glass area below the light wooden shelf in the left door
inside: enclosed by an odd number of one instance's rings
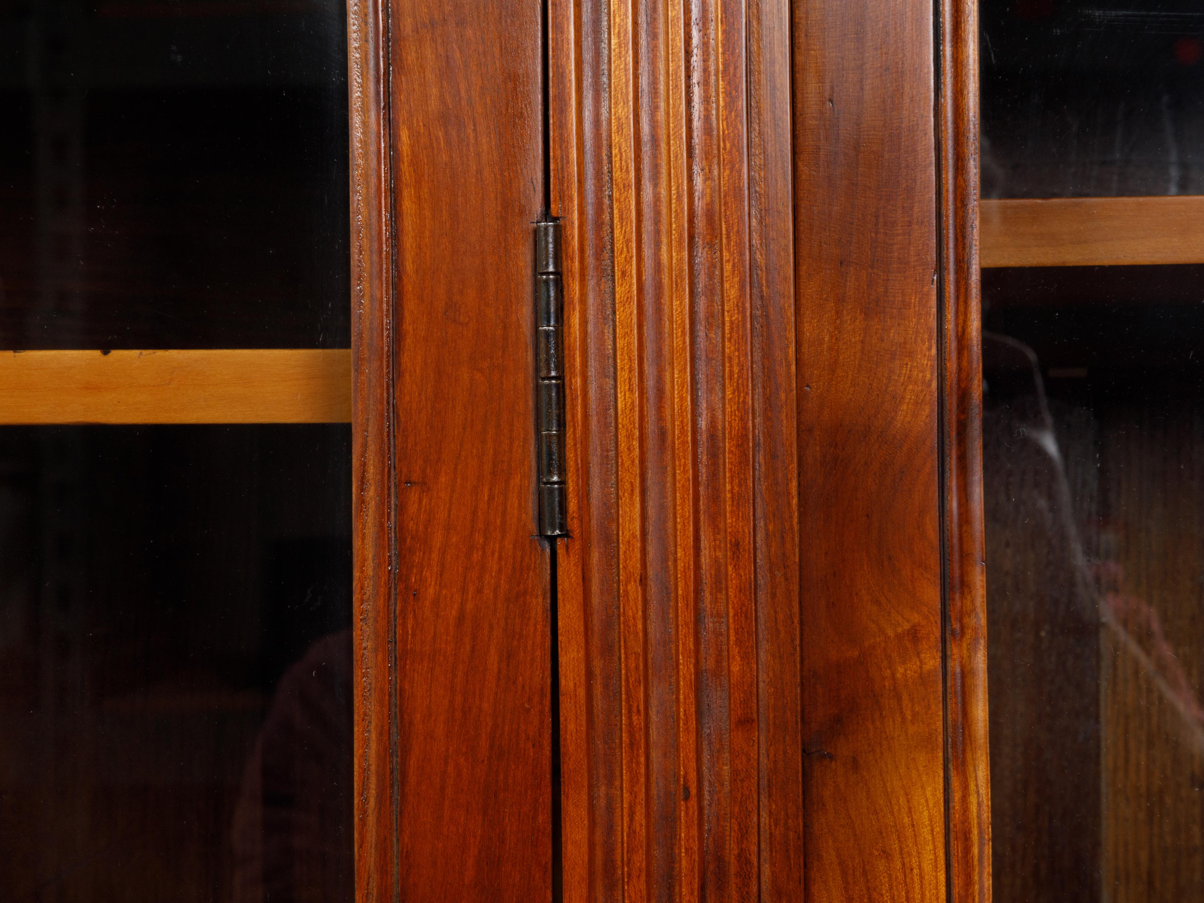
[[[353,899],[350,427],[0,430],[0,887]]]

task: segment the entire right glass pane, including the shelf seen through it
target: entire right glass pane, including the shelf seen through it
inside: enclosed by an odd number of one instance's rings
[[[1199,899],[1204,12],[980,12],[995,899]]]

